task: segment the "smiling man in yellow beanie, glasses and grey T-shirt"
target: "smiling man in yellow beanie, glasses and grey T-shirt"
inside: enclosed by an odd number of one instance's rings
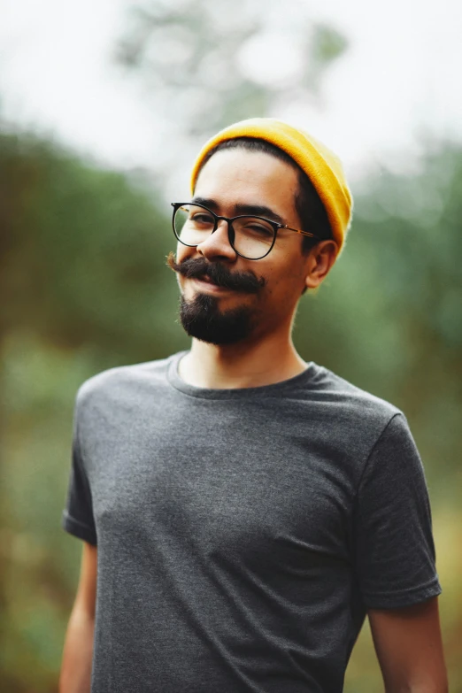
[[[447,690],[427,489],[402,412],[291,340],[351,197],[273,119],[204,146],[173,204],[191,349],[85,383],[84,540],[62,693],[336,693],[366,614],[389,693]]]

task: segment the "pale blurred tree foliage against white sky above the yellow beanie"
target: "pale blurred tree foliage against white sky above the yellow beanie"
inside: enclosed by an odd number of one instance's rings
[[[142,81],[170,127],[201,142],[239,119],[310,104],[347,41],[300,0],[144,0],[117,58]]]

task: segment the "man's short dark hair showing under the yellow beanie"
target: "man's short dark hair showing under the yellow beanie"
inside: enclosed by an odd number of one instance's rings
[[[233,140],[219,142],[204,157],[202,167],[212,158],[213,154],[221,150],[243,149],[246,151],[262,152],[274,158],[279,158],[289,164],[298,173],[298,190],[295,196],[295,208],[302,222],[302,231],[311,231],[318,238],[310,238],[304,235],[302,239],[302,251],[308,253],[316,243],[333,238],[332,228],[327,218],[326,207],[322,204],[320,196],[314,189],[312,181],[306,173],[296,164],[293,158],[285,151],[280,150],[275,144],[257,137],[235,137]]]

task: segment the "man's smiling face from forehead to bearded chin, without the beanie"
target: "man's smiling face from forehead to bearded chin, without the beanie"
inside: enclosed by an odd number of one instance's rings
[[[194,200],[226,217],[243,213],[242,205],[266,208],[267,212],[254,213],[300,228],[295,209],[297,189],[297,173],[285,162],[261,152],[221,150],[199,174]],[[255,287],[250,284],[245,288],[243,281],[243,289],[227,289],[207,281],[206,276],[204,281],[179,273],[183,327],[189,335],[211,343],[261,339],[277,330],[289,329],[305,286],[307,256],[301,247],[300,235],[279,229],[273,250],[266,258],[241,258],[229,244],[224,221],[196,248],[179,243],[179,266],[185,260],[197,259],[204,267],[222,267],[225,273],[235,275],[238,286],[240,275],[245,278],[250,274],[257,279]]]

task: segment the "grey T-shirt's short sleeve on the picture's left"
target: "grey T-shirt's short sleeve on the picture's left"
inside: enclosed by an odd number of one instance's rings
[[[77,407],[73,430],[73,454],[67,501],[62,517],[66,532],[96,546],[96,527],[89,480],[81,458]]]

